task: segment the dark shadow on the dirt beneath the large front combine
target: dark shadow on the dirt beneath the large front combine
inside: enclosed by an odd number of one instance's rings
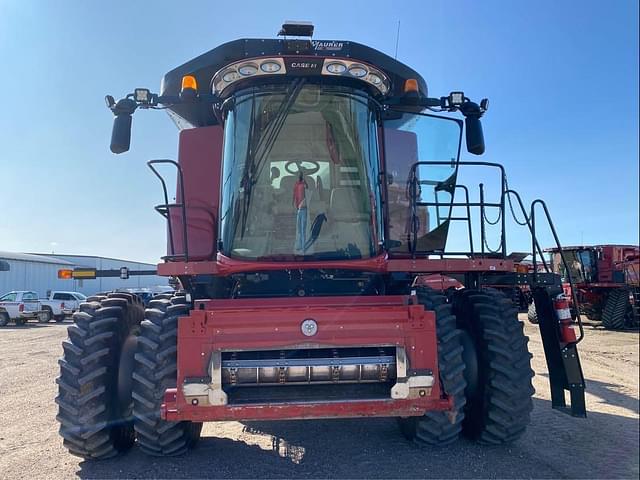
[[[115,459],[83,461],[77,473],[83,479],[637,478],[637,458],[637,417],[590,413],[576,419],[534,399],[531,427],[509,446],[462,439],[421,448],[401,436],[394,419],[246,422],[240,440],[204,437],[174,458],[134,448]]]

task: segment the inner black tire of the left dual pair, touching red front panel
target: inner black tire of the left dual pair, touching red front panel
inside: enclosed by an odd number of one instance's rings
[[[149,455],[180,455],[200,438],[202,423],[160,418],[164,392],[176,386],[178,317],[188,313],[183,296],[154,299],[141,325],[133,374],[134,418],[138,443]]]

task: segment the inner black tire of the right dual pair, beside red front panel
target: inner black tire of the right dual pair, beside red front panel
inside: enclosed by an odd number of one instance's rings
[[[428,287],[416,289],[418,301],[436,315],[438,335],[438,369],[444,392],[453,397],[452,411],[427,412],[421,417],[399,419],[405,437],[418,444],[449,445],[458,439],[464,419],[466,382],[462,359],[461,331],[444,295]]]

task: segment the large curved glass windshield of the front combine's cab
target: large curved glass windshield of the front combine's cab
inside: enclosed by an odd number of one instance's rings
[[[376,255],[376,117],[353,89],[243,91],[228,106],[222,252],[256,260]]]

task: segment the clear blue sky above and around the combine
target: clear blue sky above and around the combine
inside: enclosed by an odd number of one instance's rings
[[[398,58],[433,96],[490,99],[484,158],[547,201],[563,243],[638,243],[636,1],[0,0],[0,250],[156,261],[145,162],[175,158],[177,132],[138,112],[131,151],[112,155],[104,95],[157,91],[173,67],[285,19],[391,55],[399,20]],[[509,250],[527,248],[510,233]]]

